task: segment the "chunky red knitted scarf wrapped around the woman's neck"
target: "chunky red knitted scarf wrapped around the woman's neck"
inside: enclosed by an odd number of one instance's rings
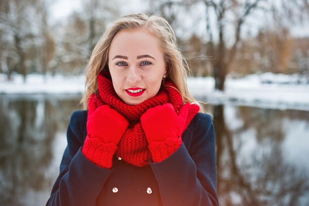
[[[165,85],[166,86],[161,88],[153,98],[138,105],[127,105],[117,96],[109,74],[101,73],[98,76],[99,95],[91,96],[93,97],[96,107],[98,108],[103,104],[107,104],[116,109],[130,122],[116,150],[116,155],[127,163],[136,166],[145,166],[149,165],[149,161],[152,158],[151,152],[148,149],[145,132],[140,122],[141,115],[149,108],[163,105],[164,103],[171,103],[176,113],[178,113],[183,106],[182,97],[176,85],[168,80],[165,81]],[[184,130],[198,111],[199,106],[191,104]]]

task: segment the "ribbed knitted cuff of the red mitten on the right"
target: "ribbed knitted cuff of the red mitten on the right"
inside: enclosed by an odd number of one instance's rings
[[[149,150],[152,153],[154,163],[159,163],[171,156],[181,146],[181,138],[168,138],[163,142],[152,142],[149,144]]]

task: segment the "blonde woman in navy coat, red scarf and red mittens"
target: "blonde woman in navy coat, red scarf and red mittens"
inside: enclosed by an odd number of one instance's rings
[[[218,205],[212,119],[184,63],[161,17],[124,16],[104,33],[48,206]]]

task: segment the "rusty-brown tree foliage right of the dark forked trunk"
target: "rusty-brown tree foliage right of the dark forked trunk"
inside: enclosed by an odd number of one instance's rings
[[[230,71],[239,76],[256,72],[293,74],[294,38],[286,28],[263,28],[258,35],[239,41]],[[309,48],[309,47],[307,47]]]

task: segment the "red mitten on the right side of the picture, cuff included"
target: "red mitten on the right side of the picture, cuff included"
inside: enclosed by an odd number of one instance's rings
[[[177,115],[173,105],[166,103],[150,108],[141,116],[141,124],[155,163],[168,158],[182,144],[181,135],[189,108],[190,103],[185,104]]]

